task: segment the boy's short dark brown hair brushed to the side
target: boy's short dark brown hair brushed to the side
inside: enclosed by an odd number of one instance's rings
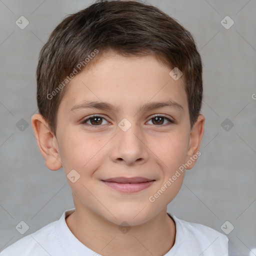
[[[183,73],[190,128],[193,126],[201,108],[202,64],[191,33],[152,5],[98,0],[64,18],[39,54],[37,106],[54,134],[58,106],[67,87],[63,80],[79,63],[84,63],[86,68],[99,58],[97,54],[85,63],[95,49],[99,53],[114,50],[123,56],[153,54],[171,69],[178,67]]]

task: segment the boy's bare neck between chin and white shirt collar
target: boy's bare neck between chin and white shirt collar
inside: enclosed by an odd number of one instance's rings
[[[101,255],[164,255],[174,244],[175,223],[166,207],[149,221],[122,231],[90,209],[79,209],[66,217],[66,224],[81,243]]]

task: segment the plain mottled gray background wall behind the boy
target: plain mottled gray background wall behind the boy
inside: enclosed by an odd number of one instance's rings
[[[195,167],[187,170],[168,212],[220,232],[228,220],[234,229],[227,236],[239,255],[249,255],[256,246],[256,1],[145,2],[191,31],[203,62],[202,154]],[[30,119],[37,111],[39,50],[67,14],[90,3],[0,0],[0,250],[73,207],[63,170],[45,166]],[[21,15],[29,21],[24,29],[15,24]],[[229,29],[220,23],[226,15],[234,21]],[[21,118],[28,124],[23,131],[16,126]],[[221,126],[226,118],[233,123],[228,131],[226,123]],[[24,235],[15,229],[21,220],[29,225]]]

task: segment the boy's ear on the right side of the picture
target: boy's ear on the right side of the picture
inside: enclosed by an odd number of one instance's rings
[[[191,169],[198,157],[198,151],[200,149],[201,139],[204,133],[204,121],[205,118],[202,114],[198,115],[196,122],[190,130],[190,142],[187,150],[186,163],[192,162],[186,169]],[[196,156],[196,157],[195,157]]]

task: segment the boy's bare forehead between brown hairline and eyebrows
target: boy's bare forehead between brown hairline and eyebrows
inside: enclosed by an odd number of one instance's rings
[[[101,101],[106,103],[105,108],[125,110],[145,108],[151,101],[168,101],[186,111],[182,76],[174,80],[170,71],[171,68],[159,63],[153,55],[102,54],[69,81],[60,105],[71,110],[86,101]]]

